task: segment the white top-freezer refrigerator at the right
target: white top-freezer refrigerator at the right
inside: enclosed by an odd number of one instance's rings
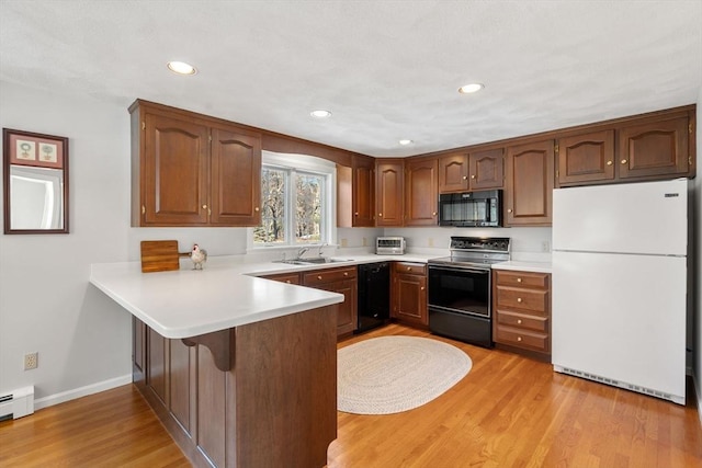
[[[687,180],[554,190],[554,370],[684,404],[687,254]]]

